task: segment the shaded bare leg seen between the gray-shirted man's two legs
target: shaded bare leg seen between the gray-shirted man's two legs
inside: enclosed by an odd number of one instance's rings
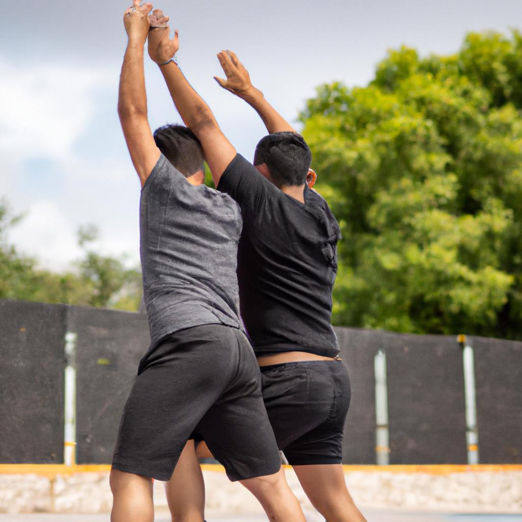
[[[187,441],[171,479],[165,483],[172,522],[203,522],[205,483],[194,441]]]

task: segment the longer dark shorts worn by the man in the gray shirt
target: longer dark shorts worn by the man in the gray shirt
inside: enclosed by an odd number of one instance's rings
[[[112,467],[169,480],[193,431],[205,438],[230,480],[280,468],[259,367],[241,330],[201,325],[162,342],[127,399]]]

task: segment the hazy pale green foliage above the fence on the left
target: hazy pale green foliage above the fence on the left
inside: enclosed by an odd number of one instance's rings
[[[125,267],[124,258],[102,256],[91,247],[95,227],[81,227],[78,243],[84,254],[73,270],[56,273],[38,267],[7,241],[7,231],[22,216],[11,216],[0,201],[0,299],[67,303],[135,311],[141,299],[141,273]]]

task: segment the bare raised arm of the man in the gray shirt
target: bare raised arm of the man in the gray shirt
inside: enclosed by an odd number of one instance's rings
[[[128,42],[123,58],[118,95],[118,115],[141,186],[145,184],[160,157],[160,150],[156,147],[147,120],[147,94],[143,69],[144,46],[150,27],[147,15],[151,9],[152,4],[140,6],[139,0],[134,0],[133,7],[129,7],[123,16]]]

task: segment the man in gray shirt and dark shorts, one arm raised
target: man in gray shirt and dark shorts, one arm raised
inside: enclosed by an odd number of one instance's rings
[[[134,0],[124,15],[118,114],[142,187],[140,255],[151,344],[118,430],[111,520],[153,520],[150,479],[169,480],[180,460],[197,466],[189,440],[197,432],[270,520],[305,522],[281,470],[256,358],[238,317],[241,211],[228,195],[203,185],[203,150],[191,131],[150,132],[143,54],[151,8]],[[204,502],[198,503],[202,518]]]

